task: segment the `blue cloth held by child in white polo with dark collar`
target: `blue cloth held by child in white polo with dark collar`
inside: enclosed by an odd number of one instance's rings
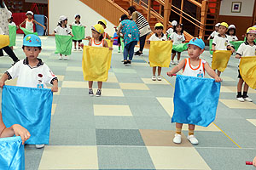
[[[4,86],[2,115],[6,127],[20,124],[31,138],[26,144],[49,144],[53,94],[48,88]]]

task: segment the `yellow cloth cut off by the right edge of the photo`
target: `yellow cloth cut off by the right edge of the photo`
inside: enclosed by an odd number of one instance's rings
[[[250,88],[256,89],[256,56],[241,57],[239,70],[243,81]]]

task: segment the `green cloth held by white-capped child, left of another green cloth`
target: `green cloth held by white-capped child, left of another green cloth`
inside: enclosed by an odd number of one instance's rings
[[[72,50],[72,36],[55,35],[55,54],[70,55]]]

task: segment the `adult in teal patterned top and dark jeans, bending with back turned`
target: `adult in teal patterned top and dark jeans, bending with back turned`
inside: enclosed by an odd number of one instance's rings
[[[133,20],[129,20],[126,14],[121,16],[121,22],[119,24],[119,29],[117,34],[119,35],[120,32],[124,35],[124,65],[131,65],[131,60],[134,54],[134,48],[139,40],[139,29],[136,23]],[[127,60],[129,54],[129,59]]]

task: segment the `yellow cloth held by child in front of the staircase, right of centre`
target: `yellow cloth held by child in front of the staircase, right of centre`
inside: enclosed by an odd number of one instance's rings
[[[149,48],[149,64],[151,67],[169,67],[172,56],[171,41],[151,41]]]

